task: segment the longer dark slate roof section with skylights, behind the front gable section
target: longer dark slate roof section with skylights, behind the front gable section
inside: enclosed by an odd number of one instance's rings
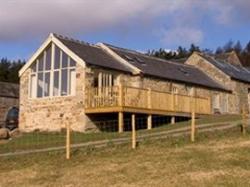
[[[191,65],[151,57],[133,50],[115,47],[110,44],[105,45],[120,57],[127,60],[131,65],[139,68],[145,75],[227,90],[224,86],[212,80],[201,70]]]

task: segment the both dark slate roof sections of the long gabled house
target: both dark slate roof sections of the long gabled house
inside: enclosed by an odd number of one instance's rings
[[[122,64],[99,46],[90,45],[61,35],[54,34],[54,36],[89,65],[128,73],[133,72],[129,66]],[[193,66],[153,58],[133,50],[122,49],[109,44],[105,45],[131,65],[139,68],[145,75],[196,84],[207,88],[227,90],[224,86]],[[129,58],[132,59],[130,60]]]

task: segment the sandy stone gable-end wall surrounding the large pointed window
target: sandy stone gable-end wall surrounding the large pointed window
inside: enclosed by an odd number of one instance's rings
[[[22,131],[60,131],[65,128],[67,120],[75,131],[84,131],[87,128],[84,113],[84,67],[79,64],[76,66],[75,96],[29,98],[29,75],[30,69],[20,79],[19,127]]]

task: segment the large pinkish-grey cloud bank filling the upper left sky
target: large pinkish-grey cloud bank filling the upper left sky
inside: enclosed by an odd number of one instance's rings
[[[161,6],[163,5],[163,6]],[[0,39],[48,32],[85,33],[154,18],[175,10],[164,0],[12,0],[0,1]]]

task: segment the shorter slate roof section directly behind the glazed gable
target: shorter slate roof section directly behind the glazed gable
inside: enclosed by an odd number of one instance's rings
[[[54,34],[54,36],[89,65],[132,73],[129,67],[118,62],[98,46],[56,34]]]

